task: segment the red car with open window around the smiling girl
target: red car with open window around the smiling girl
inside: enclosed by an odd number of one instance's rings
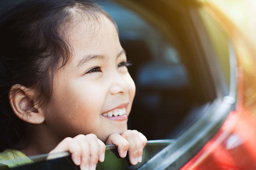
[[[128,128],[149,139],[142,163],[107,146],[97,169],[256,169],[255,49],[228,17],[207,0],[93,2],[116,21],[132,61]],[[47,156],[14,169],[78,169],[68,152]]]

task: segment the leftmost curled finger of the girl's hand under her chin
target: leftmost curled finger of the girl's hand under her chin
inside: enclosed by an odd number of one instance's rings
[[[127,155],[127,151],[129,149],[129,142],[118,133],[111,134],[108,137],[106,144],[107,145],[114,144],[115,146],[117,146],[117,150],[121,158],[124,158]]]

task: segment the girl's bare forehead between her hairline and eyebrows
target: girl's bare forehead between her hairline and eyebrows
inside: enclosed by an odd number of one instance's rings
[[[104,14],[89,18],[79,14],[64,26],[64,36],[71,45],[72,59],[78,61],[85,55],[112,55],[120,52],[117,29]],[[111,49],[111,50],[110,50]]]

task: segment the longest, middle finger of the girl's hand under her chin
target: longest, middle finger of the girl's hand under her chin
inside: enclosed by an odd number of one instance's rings
[[[136,130],[127,130],[122,136],[129,142],[129,160],[133,165],[136,165],[138,162],[141,162],[143,154],[142,140],[139,132]]]

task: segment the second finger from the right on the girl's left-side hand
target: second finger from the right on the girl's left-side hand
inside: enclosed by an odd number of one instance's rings
[[[90,146],[90,170],[96,170],[96,164],[99,160],[99,142],[98,138],[94,134],[86,135],[86,140]]]

